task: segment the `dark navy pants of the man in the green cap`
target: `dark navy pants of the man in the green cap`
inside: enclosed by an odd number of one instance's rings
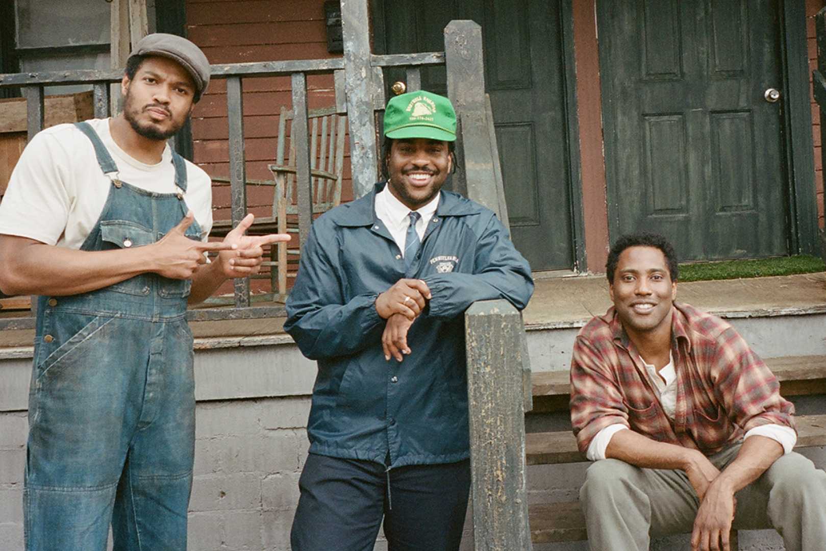
[[[382,517],[390,551],[453,551],[468,509],[470,461],[387,473],[381,463],[310,454],[298,486],[292,551],[372,551]]]

